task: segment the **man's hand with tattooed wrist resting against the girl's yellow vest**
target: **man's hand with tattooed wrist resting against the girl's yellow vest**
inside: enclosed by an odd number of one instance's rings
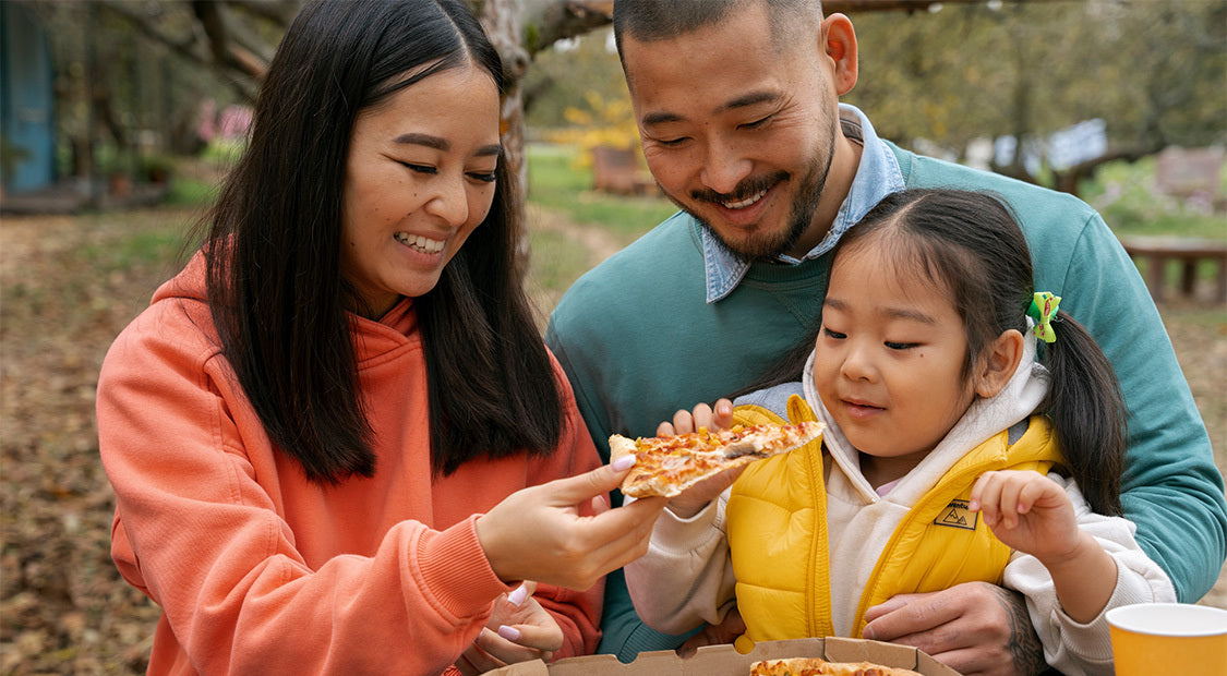
[[[865,611],[865,638],[919,648],[966,676],[1048,669],[1022,595],[993,584],[901,594]]]

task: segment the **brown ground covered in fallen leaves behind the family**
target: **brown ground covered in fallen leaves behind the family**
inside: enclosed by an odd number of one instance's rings
[[[158,611],[110,562],[93,396],[193,217],[0,221],[0,675],[144,672]],[[1164,305],[1164,321],[1227,466],[1227,308]],[[1227,607],[1227,579],[1202,602]]]

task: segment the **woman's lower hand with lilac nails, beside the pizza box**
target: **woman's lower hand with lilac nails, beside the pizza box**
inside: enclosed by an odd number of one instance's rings
[[[536,583],[525,582],[494,600],[486,627],[456,660],[461,674],[485,674],[509,664],[553,658],[553,651],[562,648],[562,628],[533,597],[535,590]]]

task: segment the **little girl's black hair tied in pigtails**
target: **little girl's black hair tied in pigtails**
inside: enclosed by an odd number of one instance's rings
[[[948,290],[967,332],[963,375],[971,375],[980,352],[1004,331],[1026,335],[1034,293],[1031,252],[1014,213],[994,195],[955,189],[893,193],[843,234],[832,261],[860,244],[885,247],[898,269]],[[795,380],[817,330],[755,388]],[[1053,421],[1064,467],[1091,508],[1119,515],[1126,437],[1115,373],[1086,329],[1064,310],[1056,314],[1055,331],[1055,342],[1038,347],[1050,373],[1038,412]]]

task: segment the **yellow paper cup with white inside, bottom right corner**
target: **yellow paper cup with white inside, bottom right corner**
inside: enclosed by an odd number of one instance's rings
[[[1191,604],[1112,609],[1117,676],[1227,676],[1227,610]]]

